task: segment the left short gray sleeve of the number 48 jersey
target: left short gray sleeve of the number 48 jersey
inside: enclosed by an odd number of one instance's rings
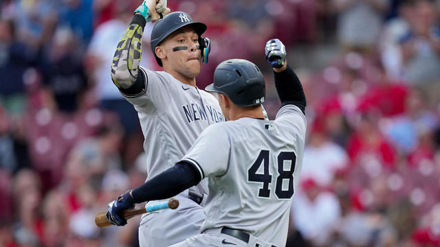
[[[201,178],[223,176],[228,171],[230,138],[221,124],[209,126],[181,161],[194,165]]]

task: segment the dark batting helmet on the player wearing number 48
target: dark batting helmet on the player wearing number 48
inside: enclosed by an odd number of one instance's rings
[[[214,83],[205,90],[228,95],[236,106],[256,106],[265,97],[263,74],[254,63],[244,59],[221,62],[214,71]]]

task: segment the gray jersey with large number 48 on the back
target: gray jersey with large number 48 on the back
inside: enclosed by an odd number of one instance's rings
[[[227,226],[285,246],[305,130],[294,105],[283,106],[274,121],[241,118],[204,130],[182,159],[208,177],[201,232]]]

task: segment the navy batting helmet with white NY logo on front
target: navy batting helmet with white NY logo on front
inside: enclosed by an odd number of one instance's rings
[[[168,37],[168,35],[187,25],[190,25],[194,28],[195,32],[199,35],[199,38],[207,28],[205,24],[192,21],[192,18],[189,14],[180,11],[167,14],[163,19],[157,21],[156,25],[153,27],[150,41],[151,51],[153,51],[153,55],[155,56],[157,64],[159,64],[160,67],[162,67],[162,61],[160,58],[157,58],[155,52],[157,45]]]

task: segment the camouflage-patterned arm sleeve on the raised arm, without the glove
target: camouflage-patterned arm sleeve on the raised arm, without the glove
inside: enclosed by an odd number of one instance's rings
[[[144,89],[145,78],[137,78],[142,54],[142,34],[146,21],[135,14],[113,56],[111,78],[123,93],[135,94]],[[135,92],[133,92],[133,89]],[[129,91],[129,92],[126,92]]]

